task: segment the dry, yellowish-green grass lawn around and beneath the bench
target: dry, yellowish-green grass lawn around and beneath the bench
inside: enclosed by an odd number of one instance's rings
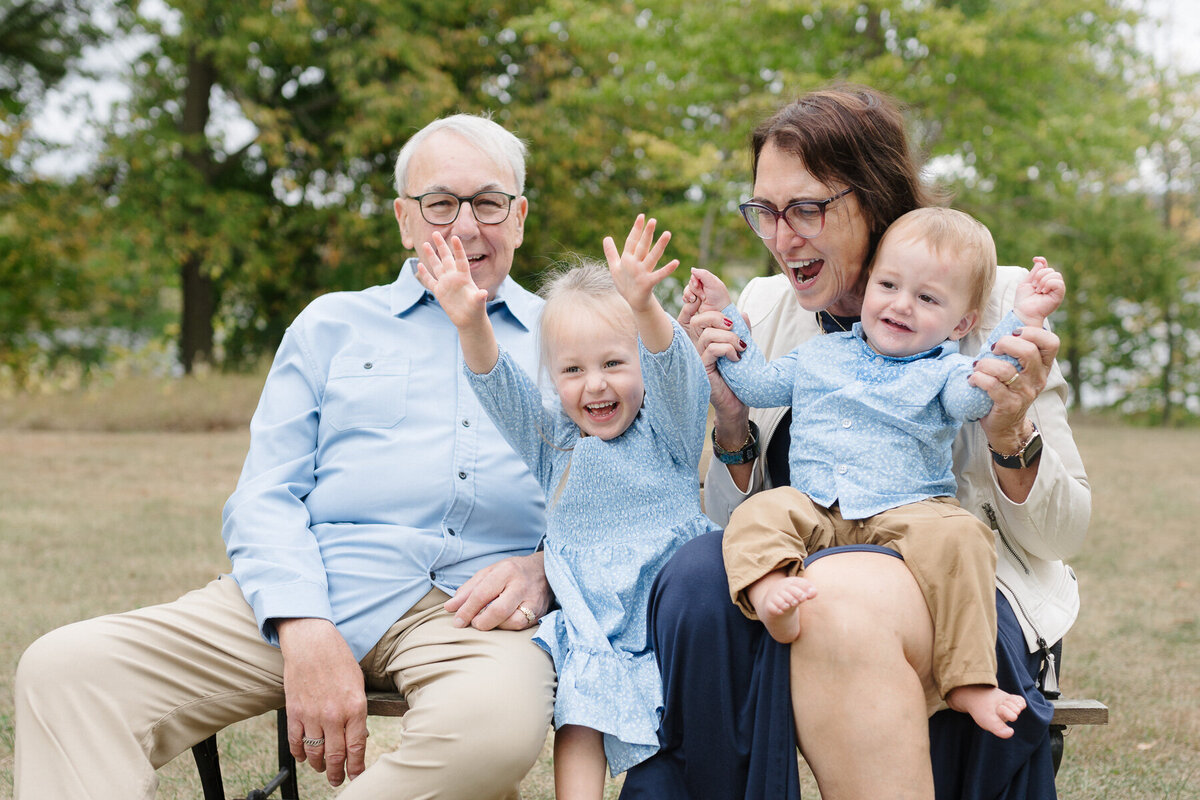
[[[257,395],[240,380],[146,383],[107,398],[0,405],[0,799],[12,795],[12,675],[24,648],[58,625],[172,600],[228,570],[221,505],[241,467]],[[139,420],[211,432],[106,432]],[[80,429],[64,429],[71,427]],[[1068,733],[1060,796],[1200,798],[1200,431],[1076,431],[1094,504],[1088,545],[1073,560],[1084,609],[1066,643],[1062,680],[1066,693],[1108,703],[1111,721]],[[395,744],[398,723],[370,724],[374,758]],[[230,796],[265,782],[274,741],[271,716],[221,734]],[[524,796],[552,798],[552,786],[547,748]],[[816,798],[811,786],[806,798]],[[611,784],[610,795],[617,789]],[[307,768],[301,794],[335,795]],[[190,754],[162,770],[158,796],[199,796]]]

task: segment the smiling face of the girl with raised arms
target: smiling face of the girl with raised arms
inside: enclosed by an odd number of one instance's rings
[[[588,435],[619,437],[646,393],[636,333],[588,308],[556,327],[550,368],[563,410]]]

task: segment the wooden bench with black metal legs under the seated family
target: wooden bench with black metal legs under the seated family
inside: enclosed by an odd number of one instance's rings
[[[1109,709],[1104,703],[1091,699],[1058,698],[1054,703],[1054,718],[1050,721],[1050,747],[1054,756],[1054,770],[1058,772],[1062,763],[1063,733],[1070,726],[1108,724]],[[408,703],[398,692],[367,692],[367,716],[402,717],[408,711]],[[266,786],[251,789],[246,800],[266,800],[276,790],[280,800],[299,800],[300,789],[296,786],[296,762],[288,748],[288,715],[276,711],[278,736],[280,771]],[[200,786],[204,800],[226,800],[224,786],[221,780],[221,763],[217,758],[217,736],[212,734],[192,747],[196,766],[200,772]]]

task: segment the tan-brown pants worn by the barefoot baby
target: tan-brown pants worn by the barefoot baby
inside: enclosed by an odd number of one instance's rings
[[[730,596],[756,619],[745,590],[776,570],[800,575],[809,553],[838,545],[882,545],[904,555],[934,620],[934,681],[996,685],[996,541],[952,498],[934,498],[847,521],[790,486],[739,505],[725,530]],[[804,636],[803,631],[800,636]]]

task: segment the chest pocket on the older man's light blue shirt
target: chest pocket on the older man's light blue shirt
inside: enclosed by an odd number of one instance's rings
[[[408,359],[334,359],[322,417],[338,431],[395,426],[408,410]]]

